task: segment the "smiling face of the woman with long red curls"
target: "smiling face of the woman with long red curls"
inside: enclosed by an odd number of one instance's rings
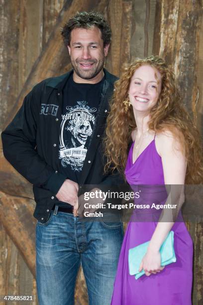
[[[150,65],[137,68],[131,78],[129,100],[133,110],[148,114],[161,92],[162,75]]]

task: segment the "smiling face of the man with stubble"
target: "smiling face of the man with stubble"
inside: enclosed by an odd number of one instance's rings
[[[82,79],[97,76],[102,71],[108,47],[109,45],[103,46],[102,34],[98,27],[73,29],[68,50],[74,72]]]

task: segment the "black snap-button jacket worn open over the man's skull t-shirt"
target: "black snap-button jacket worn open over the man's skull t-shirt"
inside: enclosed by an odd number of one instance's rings
[[[43,80],[34,86],[23,101],[23,105],[2,132],[3,153],[12,166],[33,184],[36,208],[34,217],[45,223],[54,204],[59,188],[67,178],[60,170],[58,147],[62,121],[62,90],[73,71],[59,77]],[[109,109],[109,98],[117,79],[104,69],[102,86],[91,144],[86,154],[79,185],[122,183],[118,173],[104,174],[103,134]],[[46,189],[47,187],[49,189]],[[79,193],[81,193],[81,186]]]

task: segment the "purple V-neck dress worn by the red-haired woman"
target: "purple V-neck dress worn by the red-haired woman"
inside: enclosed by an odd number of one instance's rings
[[[132,163],[133,145],[128,154],[125,176],[130,185],[157,184],[164,187],[162,160],[156,151],[155,140]],[[159,184],[159,185],[158,185]],[[139,186],[140,188],[140,186]],[[142,188],[144,189],[144,188]],[[159,191],[158,191],[159,192]],[[152,192],[145,191],[149,197]],[[163,195],[163,192],[160,192]],[[162,196],[161,195],[161,196]],[[153,196],[152,196],[153,197]],[[164,197],[164,196],[163,196]],[[145,198],[146,199],[146,198]],[[160,198],[159,198],[160,199]],[[154,221],[134,221],[147,216],[144,209],[133,212],[133,221],[128,223],[118,262],[111,305],[191,305],[193,281],[193,242],[185,223],[176,222],[174,248],[177,261],[163,271],[149,277],[143,275],[138,280],[129,275],[128,250],[151,239],[157,225],[157,212],[151,212]],[[179,213],[179,218],[182,217]]]

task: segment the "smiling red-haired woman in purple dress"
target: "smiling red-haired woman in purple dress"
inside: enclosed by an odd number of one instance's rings
[[[123,172],[125,168],[131,185],[203,182],[199,133],[176,90],[173,72],[158,56],[136,59],[116,82],[105,145],[105,169]],[[175,190],[174,197],[180,209],[183,193]],[[156,221],[154,215],[151,221],[145,218],[140,222],[143,213],[133,214],[137,221],[130,221],[127,226],[111,305],[192,304],[193,243],[181,212],[179,222],[174,223],[170,215],[174,216],[172,209],[163,209],[159,216],[162,220],[165,216],[166,222]],[[171,230],[177,261],[161,267],[159,249]],[[148,250],[140,265],[145,275],[135,280],[129,275],[128,250],[147,241]]]

